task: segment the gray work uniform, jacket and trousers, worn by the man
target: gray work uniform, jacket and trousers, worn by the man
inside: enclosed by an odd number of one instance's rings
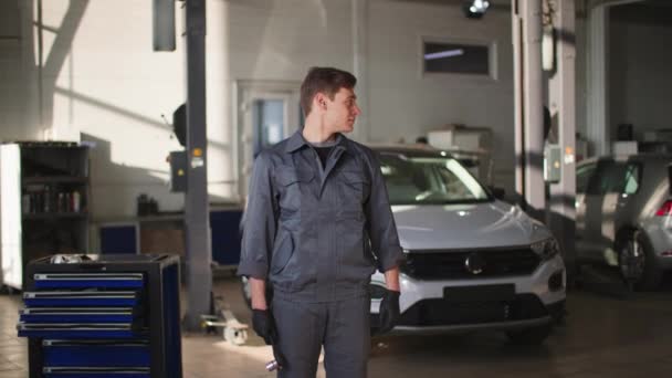
[[[314,377],[321,345],[332,377],[365,377],[368,285],[402,258],[375,153],[337,135],[323,168],[301,130],[254,162],[238,273],[267,280],[287,368]]]

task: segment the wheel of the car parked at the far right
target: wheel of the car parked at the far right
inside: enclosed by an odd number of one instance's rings
[[[662,281],[653,250],[641,231],[628,234],[618,249],[619,269],[623,279],[638,290],[655,290]]]

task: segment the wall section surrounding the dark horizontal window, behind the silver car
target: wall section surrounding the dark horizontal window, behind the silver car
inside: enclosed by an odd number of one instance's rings
[[[451,123],[491,127],[495,181],[513,192],[513,53],[508,9],[493,9],[476,21],[466,19],[454,4],[371,0],[368,33],[371,140],[413,141],[417,136]],[[494,44],[496,80],[423,75],[422,38]]]

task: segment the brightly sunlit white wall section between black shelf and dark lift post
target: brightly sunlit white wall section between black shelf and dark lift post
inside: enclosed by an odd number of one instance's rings
[[[94,219],[135,213],[141,192],[177,210],[166,156],[178,149],[170,117],[185,98],[179,52],[153,52],[150,1],[43,1],[42,127],[51,138],[85,139],[92,149]],[[35,20],[39,21],[39,20]],[[178,22],[181,30],[182,22]],[[35,29],[35,38],[40,38]]]

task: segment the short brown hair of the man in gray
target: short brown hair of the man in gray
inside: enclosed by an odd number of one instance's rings
[[[312,67],[301,84],[301,108],[304,116],[311,113],[313,97],[319,92],[330,99],[340,88],[351,90],[357,84],[355,75],[334,67]]]

